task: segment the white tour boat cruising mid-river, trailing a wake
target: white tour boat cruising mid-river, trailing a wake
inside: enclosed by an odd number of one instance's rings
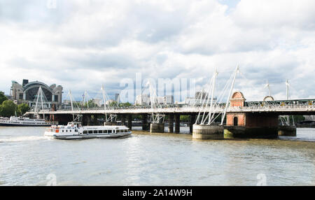
[[[125,126],[87,126],[80,122],[69,122],[64,125],[53,125],[45,131],[45,136],[56,139],[83,139],[83,138],[119,138],[130,136],[130,131]]]

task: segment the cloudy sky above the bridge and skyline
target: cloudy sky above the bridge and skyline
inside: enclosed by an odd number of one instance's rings
[[[235,66],[246,99],[315,98],[314,0],[0,0],[0,90],[39,80],[90,96],[123,78],[195,78]],[[220,90],[220,89],[219,89]],[[176,99],[179,100],[179,99]]]

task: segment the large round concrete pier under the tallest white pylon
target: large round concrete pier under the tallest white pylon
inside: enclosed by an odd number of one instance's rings
[[[224,138],[224,127],[220,125],[193,124],[193,138],[222,140]]]

